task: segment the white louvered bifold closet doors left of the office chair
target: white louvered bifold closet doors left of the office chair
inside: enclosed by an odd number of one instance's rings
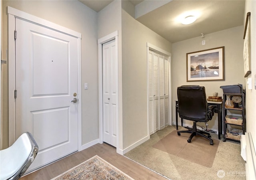
[[[149,52],[148,118],[150,135],[163,129],[169,123],[168,65],[168,57],[154,51]]]

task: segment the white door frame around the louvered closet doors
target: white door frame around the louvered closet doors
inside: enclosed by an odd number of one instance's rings
[[[168,67],[168,70],[169,70],[169,73],[168,73],[168,85],[169,85],[169,95],[168,95],[168,99],[169,99],[169,125],[172,125],[172,121],[171,121],[171,117],[172,117],[172,94],[171,94],[171,57],[172,57],[172,54],[169,53],[168,51],[165,51],[164,49],[161,49],[160,47],[157,47],[153,44],[150,44],[149,42],[147,42],[147,89],[148,89],[148,82],[149,82],[149,77],[148,77],[148,70],[149,70],[149,67],[148,67],[148,61],[149,61],[149,50],[150,49],[153,49],[154,51],[157,51],[159,53],[162,53],[164,55],[167,55],[168,56],[168,62],[169,62],[169,67]],[[147,97],[148,97],[148,93],[149,93],[149,89],[147,91]],[[149,99],[148,99],[148,139],[150,138],[150,128],[149,128]]]

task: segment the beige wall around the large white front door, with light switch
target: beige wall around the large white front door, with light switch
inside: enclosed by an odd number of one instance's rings
[[[82,144],[98,138],[98,47],[97,13],[79,1],[2,1],[2,52],[7,49],[6,7],[11,6],[26,13],[64,26],[82,34]],[[3,53],[6,59],[6,53]],[[7,66],[3,66],[3,148],[8,147],[8,89]]]

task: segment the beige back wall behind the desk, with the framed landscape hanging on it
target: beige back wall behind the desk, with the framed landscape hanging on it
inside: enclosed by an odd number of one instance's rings
[[[175,100],[177,99],[177,87],[180,85],[201,85],[206,89],[206,96],[218,92],[222,96],[222,85],[242,84],[245,89],[244,61],[243,61],[243,26],[206,34],[204,38],[192,38],[172,44],[172,122],[176,124]],[[202,40],[206,45],[202,45]],[[225,47],[225,81],[196,81],[186,82],[186,53],[210,49],[214,47]],[[180,119],[178,121],[180,123]],[[185,121],[185,123],[191,123]],[[218,116],[214,115],[212,121],[208,122],[208,129],[218,130]],[[198,123],[204,125],[204,123]],[[205,127],[205,125],[204,125]]]

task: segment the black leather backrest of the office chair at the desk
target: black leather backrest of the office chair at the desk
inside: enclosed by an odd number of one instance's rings
[[[208,121],[208,104],[203,86],[180,86],[177,88],[177,95],[178,112],[181,118],[191,121]]]

